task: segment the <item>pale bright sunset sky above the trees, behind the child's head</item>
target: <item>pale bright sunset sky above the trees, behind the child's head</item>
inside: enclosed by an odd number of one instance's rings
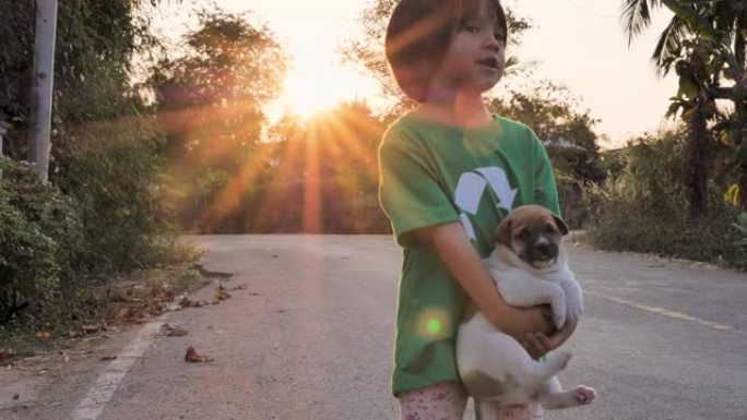
[[[372,82],[345,68],[335,53],[359,27],[360,11],[370,0],[214,1],[229,11],[253,11],[288,48],[298,71],[286,82],[285,106],[310,113],[375,92]],[[650,57],[672,15],[668,11],[656,10],[649,31],[628,47],[620,21],[622,0],[503,3],[534,25],[515,55],[536,61],[535,77],[567,85],[580,108],[601,120],[596,132],[609,139],[602,146],[624,145],[662,125],[677,83],[673,76],[660,79]]]

